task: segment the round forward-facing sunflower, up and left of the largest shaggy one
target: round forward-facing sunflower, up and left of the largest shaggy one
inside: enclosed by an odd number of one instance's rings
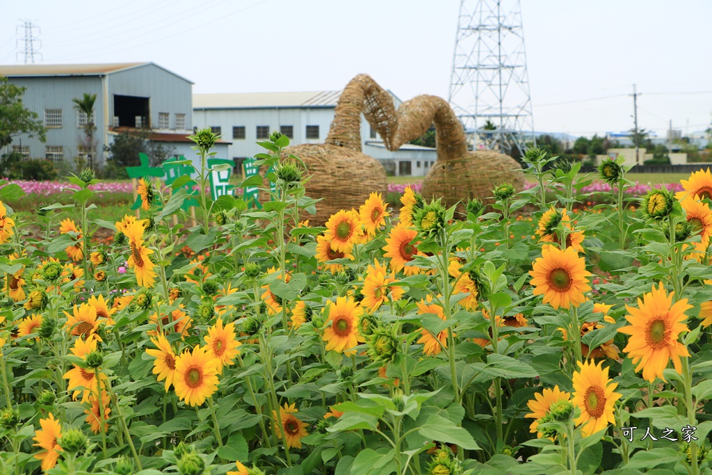
[[[584,292],[590,291],[586,261],[578,256],[575,249],[565,251],[554,246],[542,248],[542,257],[536,259],[529,271],[534,295],[544,295],[543,303],[549,303],[555,310],[559,307],[579,306],[585,301]]]

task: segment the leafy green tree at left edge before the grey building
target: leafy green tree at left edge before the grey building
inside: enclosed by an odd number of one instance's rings
[[[39,116],[22,103],[25,90],[0,76],[0,148],[10,145],[12,137],[18,134],[46,140],[47,131]]]

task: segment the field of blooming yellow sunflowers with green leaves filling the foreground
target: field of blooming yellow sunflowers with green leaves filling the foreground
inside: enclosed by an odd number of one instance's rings
[[[216,138],[139,218],[86,169],[30,233],[0,188],[1,473],[712,474],[709,169],[637,199],[609,160],[585,207],[532,149],[530,189],[314,226],[277,132],[271,200],[212,201]]]

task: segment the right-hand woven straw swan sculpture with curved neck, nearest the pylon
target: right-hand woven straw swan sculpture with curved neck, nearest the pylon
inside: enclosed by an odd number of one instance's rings
[[[389,150],[422,137],[435,123],[437,161],[423,181],[421,193],[425,199],[442,197],[451,206],[468,198],[488,202],[491,189],[501,183],[523,189],[524,174],[512,157],[491,150],[467,150],[462,125],[442,98],[419,95],[402,103],[397,115],[397,130],[386,142]]]

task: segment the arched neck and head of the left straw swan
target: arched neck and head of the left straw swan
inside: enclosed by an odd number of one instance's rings
[[[393,98],[367,74],[357,75],[344,88],[324,143],[360,152],[361,114],[381,135],[386,147],[395,150],[391,142],[398,117]]]

